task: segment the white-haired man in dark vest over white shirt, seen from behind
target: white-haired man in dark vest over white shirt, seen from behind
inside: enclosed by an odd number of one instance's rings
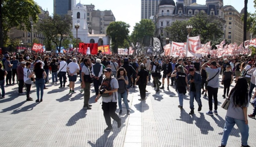
[[[99,94],[99,86],[101,85],[101,82],[103,80],[102,78],[102,71],[103,71],[103,65],[100,64],[101,60],[96,59],[96,63],[92,67],[92,74],[94,75],[94,90],[95,90],[95,95]]]

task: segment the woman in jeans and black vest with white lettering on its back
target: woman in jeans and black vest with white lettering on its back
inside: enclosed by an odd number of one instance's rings
[[[177,70],[172,72],[171,77],[176,77],[175,83],[176,83],[177,93],[178,93],[179,102],[180,102],[180,105],[178,105],[178,107],[182,110],[183,109],[183,95],[185,95],[187,93],[186,85],[188,87],[187,74],[185,74],[183,66],[179,65],[177,67]]]

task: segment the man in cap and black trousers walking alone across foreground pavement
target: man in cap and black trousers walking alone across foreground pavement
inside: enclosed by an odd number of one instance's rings
[[[98,101],[99,96],[102,97],[103,115],[108,126],[104,131],[108,132],[113,130],[111,118],[117,121],[117,128],[120,128],[122,123],[121,118],[116,114],[118,97],[117,90],[119,88],[118,81],[116,78],[111,76],[111,68],[106,68],[103,71],[106,77],[102,81],[99,94],[95,98],[95,101]]]

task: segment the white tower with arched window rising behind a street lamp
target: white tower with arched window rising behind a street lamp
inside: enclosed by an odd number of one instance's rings
[[[79,24],[79,29],[77,30],[77,38],[82,42],[87,43],[88,38],[88,26],[87,26],[87,10],[86,7],[80,2],[73,8],[73,36],[76,36],[75,23]]]

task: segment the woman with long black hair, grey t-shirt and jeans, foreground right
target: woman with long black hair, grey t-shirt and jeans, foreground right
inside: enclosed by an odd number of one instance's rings
[[[249,106],[248,83],[245,77],[240,77],[237,80],[235,87],[231,90],[230,104],[227,108],[225,125],[223,129],[223,136],[221,146],[225,147],[227,139],[236,124],[241,133],[241,147],[250,147],[247,144],[249,137],[249,127],[247,119],[247,108]]]

